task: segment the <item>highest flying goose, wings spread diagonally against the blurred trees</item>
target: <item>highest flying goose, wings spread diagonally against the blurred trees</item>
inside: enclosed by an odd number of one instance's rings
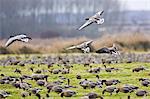
[[[86,18],[85,20],[87,20],[87,21],[81,27],[79,27],[78,30],[81,30],[81,29],[91,25],[92,23],[103,24],[104,18],[101,18],[103,13],[104,13],[104,11],[99,11],[95,15],[93,15],[89,18]]]

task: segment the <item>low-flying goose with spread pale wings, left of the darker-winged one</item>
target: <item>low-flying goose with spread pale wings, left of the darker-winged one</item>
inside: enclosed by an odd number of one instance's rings
[[[89,53],[91,51],[91,43],[92,42],[93,42],[93,40],[85,41],[79,45],[66,48],[66,50],[79,49],[79,50],[83,51],[83,53]]]

